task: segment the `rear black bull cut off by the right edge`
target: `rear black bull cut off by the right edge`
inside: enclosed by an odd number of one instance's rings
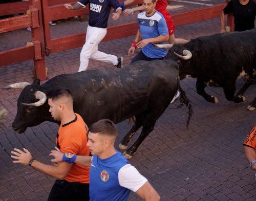
[[[204,88],[223,87],[226,99],[236,103],[245,101],[243,94],[256,82],[256,29],[244,32],[215,34],[193,39],[184,46],[156,45],[169,49],[166,58],[179,64],[180,77],[197,78],[197,93],[206,101],[218,103]],[[246,82],[236,96],[236,80],[247,76]],[[247,107],[254,110],[256,98]]]

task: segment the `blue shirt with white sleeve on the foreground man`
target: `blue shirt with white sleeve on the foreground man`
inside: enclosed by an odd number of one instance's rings
[[[93,155],[90,170],[91,201],[126,201],[130,191],[136,192],[147,179],[116,150],[108,159]]]

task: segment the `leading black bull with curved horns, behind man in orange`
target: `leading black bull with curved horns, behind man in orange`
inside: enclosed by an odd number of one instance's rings
[[[157,119],[172,101],[178,88],[181,91],[182,103],[189,107],[189,123],[192,109],[179,86],[178,68],[174,61],[138,61],[123,69],[97,69],[62,74],[42,85],[35,80],[33,84],[25,84],[19,95],[17,114],[12,127],[22,133],[27,127],[44,121],[55,122],[49,113],[47,96],[40,106],[24,103],[37,102],[39,98],[35,96],[38,96],[38,91],[47,95],[51,90],[68,88],[74,98],[74,111],[83,117],[88,126],[100,119],[119,123],[135,116],[133,127],[119,145],[121,149],[127,148],[134,133],[142,126],[138,140],[125,152],[125,156],[130,158],[154,129]],[[5,88],[13,87],[10,85]]]

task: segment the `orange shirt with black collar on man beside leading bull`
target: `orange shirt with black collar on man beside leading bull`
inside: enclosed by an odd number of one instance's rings
[[[90,150],[87,144],[87,125],[84,123],[80,115],[76,114],[76,118],[67,123],[60,124],[56,143],[60,150],[65,153],[73,153],[77,155],[89,155]],[[73,164],[65,180],[68,182],[79,182],[89,184],[90,167]]]

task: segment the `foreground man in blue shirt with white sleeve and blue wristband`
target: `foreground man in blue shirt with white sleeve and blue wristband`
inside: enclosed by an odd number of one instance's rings
[[[91,201],[125,201],[131,190],[143,200],[160,200],[158,193],[146,178],[115,149],[117,135],[117,128],[112,121],[100,120],[90,126],[88,133],[87,146],[93,157],[51,151],[50,155],[55,158],[51,161],[91,166]]]

